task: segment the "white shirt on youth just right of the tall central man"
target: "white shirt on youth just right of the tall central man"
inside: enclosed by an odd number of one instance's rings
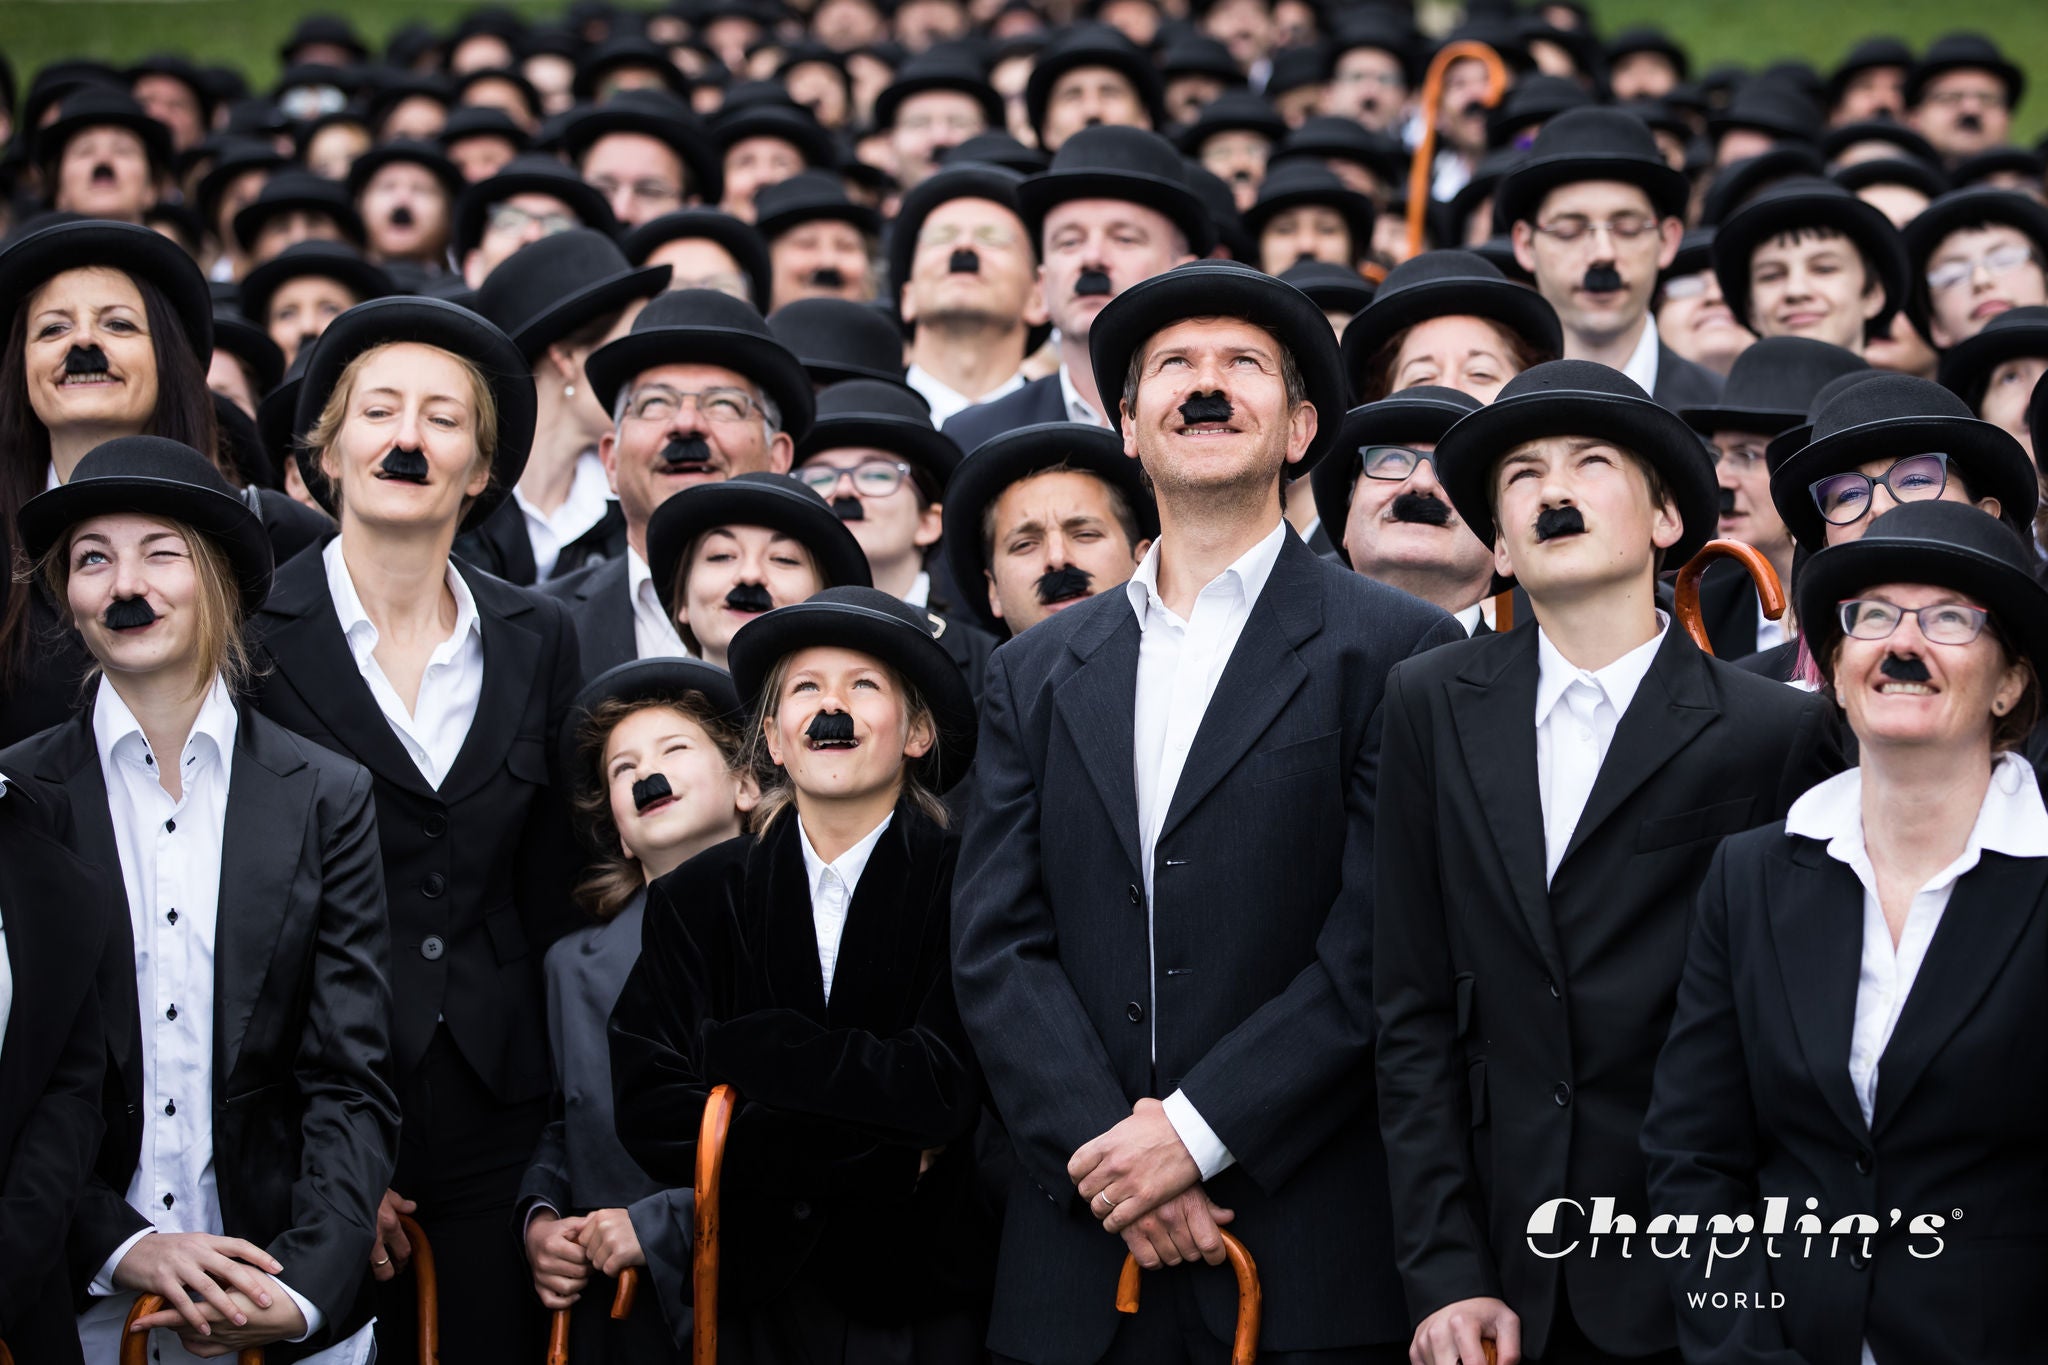
[[[1608,761],[1614,726],[1651,671],[1671,618],[1657,612],[1657,634],[1599,671],[1587,671],[1556,651],[1536,628],[1536,790],[1542,796],[1542,880],[1556,876],[1571,831],[1585,814],[1599,765]]]

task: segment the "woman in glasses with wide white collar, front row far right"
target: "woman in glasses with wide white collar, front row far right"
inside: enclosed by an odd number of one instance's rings
[[[1800,620],[1862,763],[1729,839],[1700,890],[1651,1207],[1757,1222],[1714,1238],[1712,1279],[1704,1238],[1665,1263],[1679,1342],[1712,1365],[2032,1361],[2048,808],[2017,747],[2048,591],[2011,530],[1925,501],[1821,551]]]

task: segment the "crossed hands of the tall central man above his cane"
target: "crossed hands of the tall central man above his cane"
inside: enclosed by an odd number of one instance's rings
[[[1165,1105],[1141,1099],[1130,1117],[1083,1142],[1067,1179],[1104,1230],[1124,1238],[1139,1267],[1223,1265],[1223,1224],[1235,1214],[1202,1189],[1202,1171],[1174,1132]]]

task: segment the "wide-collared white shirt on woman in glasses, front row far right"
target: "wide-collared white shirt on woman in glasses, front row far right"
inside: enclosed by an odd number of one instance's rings
[[[2009,857],[2048,855],[2048,806],[2042,806],[2040,784],[2028,761],[2017,753],[2001,753],[1991,765],[1991,784],[1985,788],[1962,853],[1913,892],[1896,945],[1890,925],[1884,923],[1884,905],[1878,900],[1878,874],[1864,845],[1864,769],[1835,774],[1794,800],[1786,812],[1786,833],[1825,839],[1827,855],[1845,864],[1864,884],[1864,960],[1855,976],[1849,1085],[1868,1126],[1878,1107],[1878,1062],[1892,1042],[1892,1029],[1898,1027],[1898,1015],[1905,1013],[1935,929],[1942,927],[1956,880],[1978,864],[1985,849]],[[1864,1342],[1862,1365],[1876,1365],[1870,1342]]]

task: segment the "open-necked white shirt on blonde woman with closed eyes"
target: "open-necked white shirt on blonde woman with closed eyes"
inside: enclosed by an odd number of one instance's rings
[[[455,630],[434,653],[426,657],[426,673],[420,675],[420,696],[412,708],[406,706],[383,665],[377,663],[377,626],[362,610],[356,583],[348,575],[348,561],[342,559],[342,538],[336,536],[322,551],[328,565],[328,593],[334,598],[334,614],[342,618],[342,634],[348,639],[348,653],[356,659],[356,671],[377,698],[377,710],[391,722],[391,733],[406,745],[414,765],[426,784],[440,790],[455,755],[469,739],[469,724],[477,718],[477,698],[483,696],[483,624],[477,620],[477,600],[469,593],[469,583],[449,561],[449,591],[455,593]]]

